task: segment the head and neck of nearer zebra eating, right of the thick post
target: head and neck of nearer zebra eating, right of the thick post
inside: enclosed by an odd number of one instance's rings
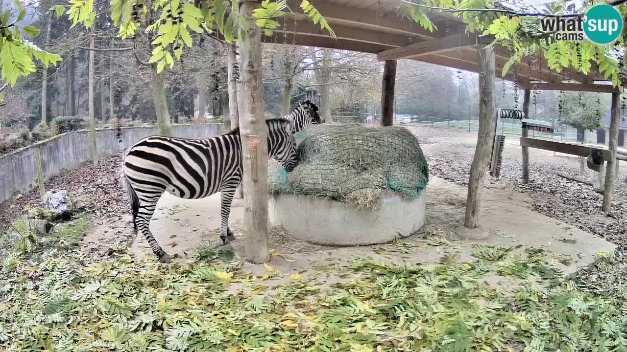
[[[283,165],[285,172],[292,172],[298,163],[296,140],[292,133],[293,122],[287,118],[266,120],[268,124],[268,157]]]

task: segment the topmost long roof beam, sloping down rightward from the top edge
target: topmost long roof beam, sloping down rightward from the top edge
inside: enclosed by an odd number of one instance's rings
[[[296,13],[300,11],[302,14],[302,9],[300,9],[301,2],[302,0],[288,0],[288,5],[292,11]],[[409,18],[401,18],[396,11],[377,13],[377,11],[357,9],[350,6],[332,4],[327,1],[316,1],[314,5],[334,31],[335,24],[344,24],[345,26],[357,28],[370,28],[375,31],[396,32],[406,36],[419,36],[423,40],[441,37],[438,33],[431,32],[419,26],[418,23],[410,21]],[[290,13],[287,13],[286,16],[293,18],[293,14]],[[300,19],[298,21],[300,22]]]

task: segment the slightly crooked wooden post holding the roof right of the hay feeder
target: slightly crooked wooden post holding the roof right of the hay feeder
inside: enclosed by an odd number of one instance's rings
[[[477,148],[470,167],[468,180],[468,199],[466,199],[466,215],[464,226],[470,229],[480,227],[483,179],[490,158],[490,147],[494,136],[494,80],[495,56],[494,48],[479,45],[479,132]]]

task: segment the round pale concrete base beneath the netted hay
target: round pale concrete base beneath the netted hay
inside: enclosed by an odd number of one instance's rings
[[[357,209],[332,199],[272,194],[268,215],[275,225],[303,241],[327,246],[362,246],[408,237],[424,225],[426,190],[407,200],[383,197],[377,209]]]

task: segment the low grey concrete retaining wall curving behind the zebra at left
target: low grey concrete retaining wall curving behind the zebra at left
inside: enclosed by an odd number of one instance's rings
[[[224,133],[222,124],[174,125],[175,137],[209,138]],[[114,155],[119,150],[130,147],[138,140],[157,134],[156,126],[123,127],[118,142],[117,128],[97,130],[98,158]],[[89,131],[63,133],[47,140],[29,145],[0,157],[0,204],[37,186],[37,172],[34,168],[34,150],[41,150],[41,168],[46,180],[60,175],[64,170],[72,170],[82,163],[92,161],[92,143]]]

